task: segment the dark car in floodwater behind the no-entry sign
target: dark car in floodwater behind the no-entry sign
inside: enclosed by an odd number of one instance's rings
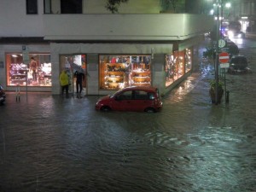
[[[248,68],[248,61],[244,55],[233,55],[230,58],[230,67],[228,73],[250,73],[251,70]]]

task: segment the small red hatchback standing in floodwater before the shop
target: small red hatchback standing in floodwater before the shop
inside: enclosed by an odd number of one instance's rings
[[[96,110],[157,112],[163,107],[159,91],[152,86],[131,86],[103,96],[96,102]]]

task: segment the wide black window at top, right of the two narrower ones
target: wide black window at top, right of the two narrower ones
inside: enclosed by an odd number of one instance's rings
[[[82,14],[82,0],[61,0],[61,14]]]

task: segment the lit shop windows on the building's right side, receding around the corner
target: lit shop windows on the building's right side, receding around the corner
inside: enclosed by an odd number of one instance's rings
[[[191,49],[174,51],[172,55],[166,55],[166,87],[188,73],[191,68]]]

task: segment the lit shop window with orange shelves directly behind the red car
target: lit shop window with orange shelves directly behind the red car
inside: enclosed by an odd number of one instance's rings
[[[100,89],[151,85],[149,55],[100,55]]]

